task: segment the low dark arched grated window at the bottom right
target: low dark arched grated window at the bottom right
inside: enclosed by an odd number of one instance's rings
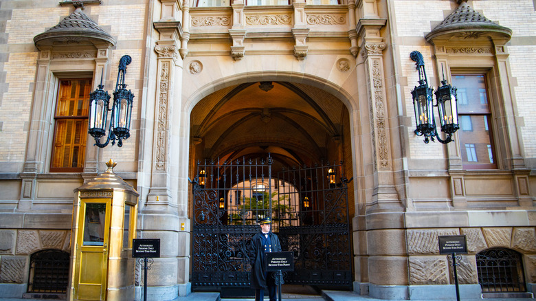
[[[484,293],[526,291],[521,254],[512,249],[498,247],[476,254],[476,269]]]

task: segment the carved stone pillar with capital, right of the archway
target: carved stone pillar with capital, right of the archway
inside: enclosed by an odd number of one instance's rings
[[[367,79],[375,187],[372,200],[367,204],[368,213],[403,210],[403,204],[394,189],[391,159],[386,82],[383,75],[383,49],[386,48],[386,43],[379,32],[385,24],[385,19],[361,19],[357,25]]]

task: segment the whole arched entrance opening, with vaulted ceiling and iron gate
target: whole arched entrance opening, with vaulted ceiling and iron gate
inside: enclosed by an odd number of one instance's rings
[[[247,82],[201,100],[190,135],[192,289],[249,287],[247,245],[267,214],[295,253],[287,283],[351,286],[353,163],[339,99],[310,85]]]

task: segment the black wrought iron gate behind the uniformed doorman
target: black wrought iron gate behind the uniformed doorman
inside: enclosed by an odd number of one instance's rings
[[[284,251],[295,254],[287,283],[351,285],[346,179],[340,165],[271,175],[272,159],[198,162],[193,181],[192,287],[249,288],[250,239],[272,216]],[[331,171],[330,171],[331,170]]]

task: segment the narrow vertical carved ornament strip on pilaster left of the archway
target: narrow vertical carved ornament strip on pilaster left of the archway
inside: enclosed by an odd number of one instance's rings
[[[166,168],[166,133],[168,125],[169,62],[162,62],[160,70],[160,94],[157,119],[156,169]]]

